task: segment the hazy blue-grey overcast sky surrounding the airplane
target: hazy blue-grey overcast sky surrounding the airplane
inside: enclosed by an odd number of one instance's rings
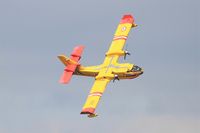
[[[1,0],[1,133],[199,133],[198,0]],[[101,64],[123,14],[139,25],[126,61],[137,79],[111,82],[97,108],[80,115],[93,78],[58,80],[57,55],[85,45],[81,63]]]

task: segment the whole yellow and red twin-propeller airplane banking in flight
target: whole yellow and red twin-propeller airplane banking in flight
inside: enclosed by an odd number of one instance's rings
[[[118,63],[119,57],[126,59],[130,53],[124,50],[125,42],[131,28],[136,27],[135,20],[132,15],[124,15],[114,34],[109,50],[105,54],[105,59],[102,64],[97,66],[83,66],[79,63],[83,53],[84,46],[76,46],[70,57],[64,54],[58,58],[65,65],[64,72],[60,78],[60,83],[69,83],[72,75],[94,77],[95,81],[87,100],[80,114],[86,114],[88,117],[96,117],[95,110],[102,97],[107,84],[110,81],[121,79],[134,79],[143,74],[143,69],[135,64]]]

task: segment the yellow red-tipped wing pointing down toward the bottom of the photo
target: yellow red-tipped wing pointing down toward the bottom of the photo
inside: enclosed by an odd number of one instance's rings
[[[81,114],[88,114],[88,116],[95,115],[95,109],[109,81],[109,79],[95,80],[94,85],[85,102],[85,105],[83,106]]]

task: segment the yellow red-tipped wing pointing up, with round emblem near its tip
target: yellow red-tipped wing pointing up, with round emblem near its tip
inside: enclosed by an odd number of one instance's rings
[[[110,58],[111,56],[116,57],[117,61],[119,56],[123,56],[125,51],[123,51],[123,47],[128,38],[128,34],[132,27],[136,27],[137,25],[134,23],[134,19],[131,15],[124,15],[120,21],[120,24],[117,27],[117,30],[114,34],[114,38],[112,40],[111,46],[106,53],[106,57]]]

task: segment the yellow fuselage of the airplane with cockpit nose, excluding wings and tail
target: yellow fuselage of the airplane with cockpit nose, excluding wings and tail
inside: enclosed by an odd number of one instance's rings
[[[98,66],[88,66],[84,67],[79,65],[77,67],[75,75],[82,75],[82,76],[91,76],[95,77],[96,79],[114,79],[118,77],[119,79],[133,79],[138,77],[143,73],[143,70],[130,63],[117,63],[118,58],[116,56],[108,56],[104,60],[103,64]],[[137,69],[134,69],[137,67]]]

